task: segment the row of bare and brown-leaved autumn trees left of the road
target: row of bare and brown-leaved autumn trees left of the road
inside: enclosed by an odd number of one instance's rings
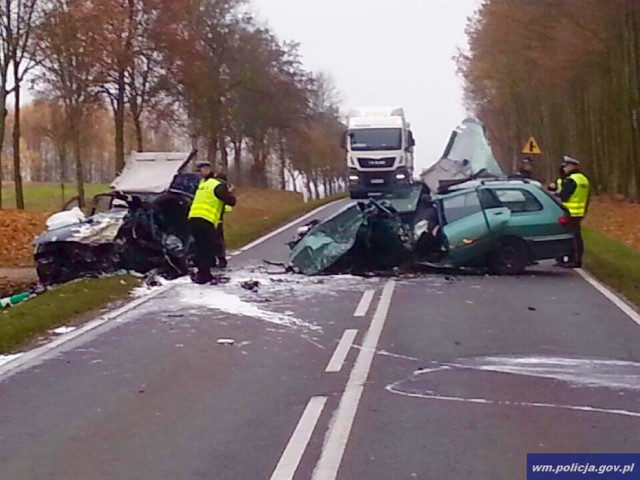
[[[37,97],[29,139],[25,85]],[[46,151],[38,178],[73,173],[81,197],[87,178],[122,169],[128,149],[162,146],[197,147],[238,184],[331,192],[344,168],[338,103],[331,79],[307,72],[298,45],[279,41],[243,0],[0,4],[0,147],[5,131],[13,139],[0,178],[12,174],[18,208],[25,143]],[[98,138],[110,138],[107,155]]]

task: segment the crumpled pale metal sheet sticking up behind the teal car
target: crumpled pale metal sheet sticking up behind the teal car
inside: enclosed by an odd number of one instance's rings
[[[442,158],[420,175],[432,192],[441,183],[472,178],[478,174],[503,177],[504,172],[493,156],[484,126],[478,120],[468,118],[456,128]]]

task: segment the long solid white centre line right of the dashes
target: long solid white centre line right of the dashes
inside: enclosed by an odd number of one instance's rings
[[[313,480],[334,480],[342,462],[344,451],[349,441],[353,421],[362,398],[364,385],[371,370],[373,358],[378,349],[378,342],[391,306],[391,297],[395,289],[395,282],[389,281],[382,290],[380,303],[371,321],[358,354],[356,363],[349,375],[349,381],[344,389],[340,404],[329,427],[329,432],[322,447],[320,460],[313,471]]]

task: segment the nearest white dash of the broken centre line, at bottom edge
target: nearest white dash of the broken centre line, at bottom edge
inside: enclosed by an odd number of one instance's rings
[[[273,475],[271,475],[271,480],[291,480],[293,478],[325,403],[327,403],[327,397],[312,397],[309,400],[307,408],[304,409],[300,421],[293,431]]]

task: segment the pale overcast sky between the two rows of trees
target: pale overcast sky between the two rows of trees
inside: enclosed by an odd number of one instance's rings
[[[403,106],[416,137],[416,170],[439,159],[465,117],[452,57],[480,0],[252,0],[305,67],[333,76],[345,110]]]

